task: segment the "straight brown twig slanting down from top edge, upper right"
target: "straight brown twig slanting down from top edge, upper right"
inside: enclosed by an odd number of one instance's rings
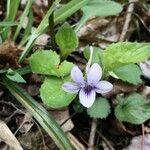
[[[131,22],[131,18],[132,18],[132,12],[134,11],[134,3],[135,0],[130,0],[130,4],[128,6],[128,10],[127,10],[127,15],[126,15],[126,18],[125,18],[125,22],[124,22],[124,26],[123,26],[123,29],[122,29],[122,32],[120,34],[120,38],[119,38],[119,41],[122,42],[125,40],[126,38],[126,34],[127,34],[127,31],[128,31],[128,28],[129,28],[129,25],[130,25],[130,22]]]

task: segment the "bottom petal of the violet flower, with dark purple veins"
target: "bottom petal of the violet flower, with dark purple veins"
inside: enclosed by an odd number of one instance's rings
[[[79,99],[80,99],[80,103],[84,106],[84,107],[91,107],[95,101],[95,96],[96,96],[96,92],[94,90],[91,90],[89,93],[87,93],[84,88],[82,88],[80,90],[79,93]]]

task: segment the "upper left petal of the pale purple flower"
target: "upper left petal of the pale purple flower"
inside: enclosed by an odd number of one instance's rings
[[[71,70],[71,78],[73,81],[79,83],[79,84],[84,84],[84,78],[83,78],[83,73],[79,69],[78,66],[74,66]]]

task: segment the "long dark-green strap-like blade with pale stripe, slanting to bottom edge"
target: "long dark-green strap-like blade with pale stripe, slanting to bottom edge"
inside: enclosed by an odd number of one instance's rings
[[[47,110],[34,100],[25,90],[6,77],[3,83],[10,93],[30,112],[61,150],[73,150],[73,146]]]

